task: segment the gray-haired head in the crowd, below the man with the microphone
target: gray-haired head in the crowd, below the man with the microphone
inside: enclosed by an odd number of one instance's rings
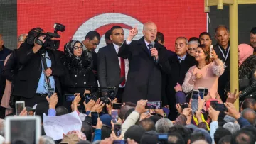
[[[169,128],[174,124],[167,118],[159,119],[156,121],[156,132],[157,133],[168,133]]]

